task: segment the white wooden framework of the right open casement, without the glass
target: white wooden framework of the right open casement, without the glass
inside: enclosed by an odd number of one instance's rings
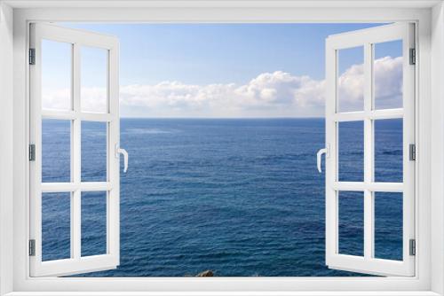
[[[402,41],[402,105],[400,109],[375,110],[373,74],[375,44]],[[361,47],[363,50],[363,111],[339,112],[338,52]],[[415,256],[409,254],[409,240],[415,239],[415,161],[409,160],[409,144],[415,144],[415,65],[409,52],[415,49],[415,25],[395,23],[381,27],[331,35],[326,43],[326,263],[331,269],[342,269],[383,276],[415,276]],[[403,182],[375,182],[375,121],[403,121]],[[339,181],[339,122],[363,122],[363,182]],[[363,256],[339,253],[339,192],[363,192]],[[375,257],[375,192],[402,192],[402,261]]]

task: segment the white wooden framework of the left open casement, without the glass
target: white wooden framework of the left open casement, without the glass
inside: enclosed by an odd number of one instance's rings
[[[70,44],[71,47],[71,104],[70,111],[42,110],[42,41]],[[115,269],[119,264],[119,159],[115,146],[119,144],[118,102],[118,40],[114,36],[99,35],[82,30],[31,24],[30,46],[36,50],[36,63],[29,66],[30,82],[30,143],[36,145],[36,160],[30,162],[30,224],[29,238],[36,240],[36,255],[29,256],[30,276],[67,276],[83,272]],[[107,52],[107,113],[85,113],[81,109],[81,48],[100,48]],[[71,125],[71,181],[42,183],[42,121],[66,120]],[[107,124],[107,181],[81,180],[82,121]],[[81,194],[88,191],[107,192],[107,253],[82,256]],[[42,261],[42,194],[67,192],[71,196],[70,258]]]

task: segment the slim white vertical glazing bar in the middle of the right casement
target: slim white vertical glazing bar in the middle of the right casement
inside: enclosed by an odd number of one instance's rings
[[[364,46],[364,257],[369,259],[374,253],[374,194],[369,190],[369,183],[373,182],[374,167],[374,137],[373,121],[370,118],[372,108],[372,44]]]

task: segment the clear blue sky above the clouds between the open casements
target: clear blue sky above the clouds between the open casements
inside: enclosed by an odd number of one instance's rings
[[[115,35],[121,82],[244,83],[281,70],[324,77],[329,35],[379,24],[72,25]],[[353,57],[350,57],[353,58]]]

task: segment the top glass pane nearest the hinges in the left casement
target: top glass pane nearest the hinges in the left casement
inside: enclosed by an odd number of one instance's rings
[[[42,108],[71,109],[72,44],[42,40]]]

